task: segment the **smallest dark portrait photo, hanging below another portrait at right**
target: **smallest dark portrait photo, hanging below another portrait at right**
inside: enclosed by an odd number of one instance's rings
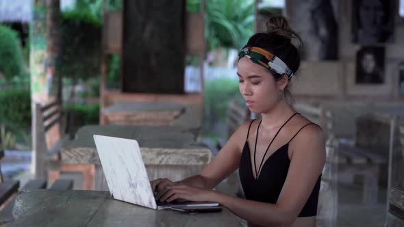
[[[356,83],[384,83],[384,47],[365,46],[356,55]]]

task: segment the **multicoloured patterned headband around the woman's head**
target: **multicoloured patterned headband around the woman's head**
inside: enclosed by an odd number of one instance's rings
[[[260,47],[244,47],[238,53],[238,59],[247,56],[251,59],[255,64],[259,64],[260,66],[264,66],[269,70],[273,70],[277,74],[288,75],[288,79],[293,77],[293,72],[290,70],[288,66],[286,66],[285,62],[283,62],[279,57],[273,55]]]

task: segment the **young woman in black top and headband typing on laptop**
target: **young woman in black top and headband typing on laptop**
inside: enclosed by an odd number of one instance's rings
[[[157,200],[219,202],[249,226],[316,226],[325,138],[286,102],[300,65],[292,39],[301,40],[281,16],[267,27],[249,39],[238,60],[240,92],[262,119],[244,122],[198,175],[152,181]],[[212,190],[238,168],[246,199]]]

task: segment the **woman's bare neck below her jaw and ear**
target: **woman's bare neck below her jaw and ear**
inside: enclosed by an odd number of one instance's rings
[[[278,105],[266,113],[262,113],[262,123],[261,126],[267,130],[279,129],[283,123],[288,120],[295,111],[286,103],[283,99]]]

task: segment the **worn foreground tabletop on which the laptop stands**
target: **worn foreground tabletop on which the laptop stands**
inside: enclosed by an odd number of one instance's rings
[[[110,198],[107,191],[24,190],[8,226],[242,226],[227,209],[188,214],[157,211]]]

